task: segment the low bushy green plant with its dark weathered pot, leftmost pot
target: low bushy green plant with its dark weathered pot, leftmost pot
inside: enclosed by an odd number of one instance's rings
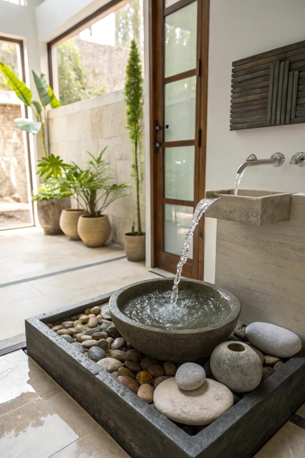
[[[71,191],[55,178],[48,178],[38,186],[32,200],[37,202],[39,222],[47,235],[62,234],[59,218],[71,204]]]

